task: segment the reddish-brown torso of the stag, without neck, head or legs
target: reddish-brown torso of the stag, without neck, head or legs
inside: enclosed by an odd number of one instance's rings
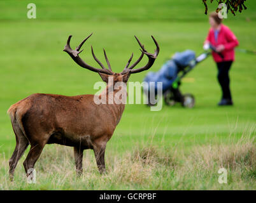
[[[94,95],[34,94],[10,108],[20,117],[30,143],[43,139],[85,149],[93,148],[98,138],[110,140],[123,111],[124,104],[97,105]]]

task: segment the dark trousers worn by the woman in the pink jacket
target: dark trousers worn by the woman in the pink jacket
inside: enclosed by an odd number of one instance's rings
[[[229,62],[219,62],[217,63],[218,67],[218,82],[222,88],[222,98],[229,99],[231,98],[231,90],[229,89],[229,69],[231,69],[232,61]]]

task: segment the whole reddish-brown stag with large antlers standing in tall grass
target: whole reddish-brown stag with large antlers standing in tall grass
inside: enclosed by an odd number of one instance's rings
[[[105,98],[108,98],[110,93],[108,88],[110,86],[115,85],[116,82],[124,82],[126,84],[131,74],[150,69],[159,54],[159,45],[153,36],[152,39],[157,46],[153,54],[148,53],[135,36],[141,48],[141,56],[129,66],[132,54],[124,70],[120,73],[112,71],[104,49],[104,57],[108,64],[108,69],[96,58],[91,47],[94,60],[101,66],[101,69],[97,69],[85,63],[79,56],[83,51],[83,49],[80,51],[83,43],[90,36],[86,37],[76,49],[71,48],[69,43],[72,36],[69,36],[63,51],[66,51],[84,69],[97,72],[103,81],[107,83],[106,89],[99,97],[105,96]],[[143,55],[148,57],[148,63],[141,68],[134,69],[143,58]],[[117,89],[113,89],[114,96],[117,91]],[[127,94],[126,88],[125,93]],[[8,114],[16,136],[16,147],[9,160],[10,180],[13,180],[17,162],[28,145],[31,145],[31,148],[23,163],[27,176],[31,174],[28,171],[34,168],[34,164],[45,145],[52,143],[74,148],[76,174],[78,176],[82,174],[83,150],[86,149],[94,150],[99,172],[104,173],[106,170],[104,162],[106,143],[110,140],[122,117],[125,103],[109,103],[107,100],[106,103],[96,104],[94,98],[94,95],[63,96],[36,93],[11,105],[8,109]]]

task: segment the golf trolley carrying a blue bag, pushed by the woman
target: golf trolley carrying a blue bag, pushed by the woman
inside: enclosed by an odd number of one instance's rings
[[[149,72],[144,82],[162,82],[162,95],[164,96],[164,102],[166,105],[173,106],[175,103],[181,103],[183,107],[193,108],[195,105],[194,95],[190,93],[182,94],[180,91],[181,79],[185,77],[196,65],[203,62],[209,55],[211,55],[211,50],[216,51],[215,47],[208,44],[204,46],[205,51],[201,55],[195,55],[194,51],[186,50],[181,53],[175,53],[175,55],[167,60],[166,63],[161,67],[158,72]],[[221,57],[223,57],[220,54]],[[148,86],[143,87],[143,91],[155,91],[157,95],[157,87],[148,88]],[[153,103],[150,102],[148,97],[148,105],[152,106]]]

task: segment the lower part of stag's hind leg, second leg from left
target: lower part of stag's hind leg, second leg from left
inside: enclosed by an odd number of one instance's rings
[[[43,148],[45,147],[45,143],[33,143],[31,144],[31,148],[29,150],[29,154],[27,154],[27,157],[25,161],[23,162],[25,173],[27,176],[31,174],[32,172],[28,172],[29,169],[34,169],[34,164],[36,164],[36,161],[38,160],[39,156],[41,155],[41,152]]]

